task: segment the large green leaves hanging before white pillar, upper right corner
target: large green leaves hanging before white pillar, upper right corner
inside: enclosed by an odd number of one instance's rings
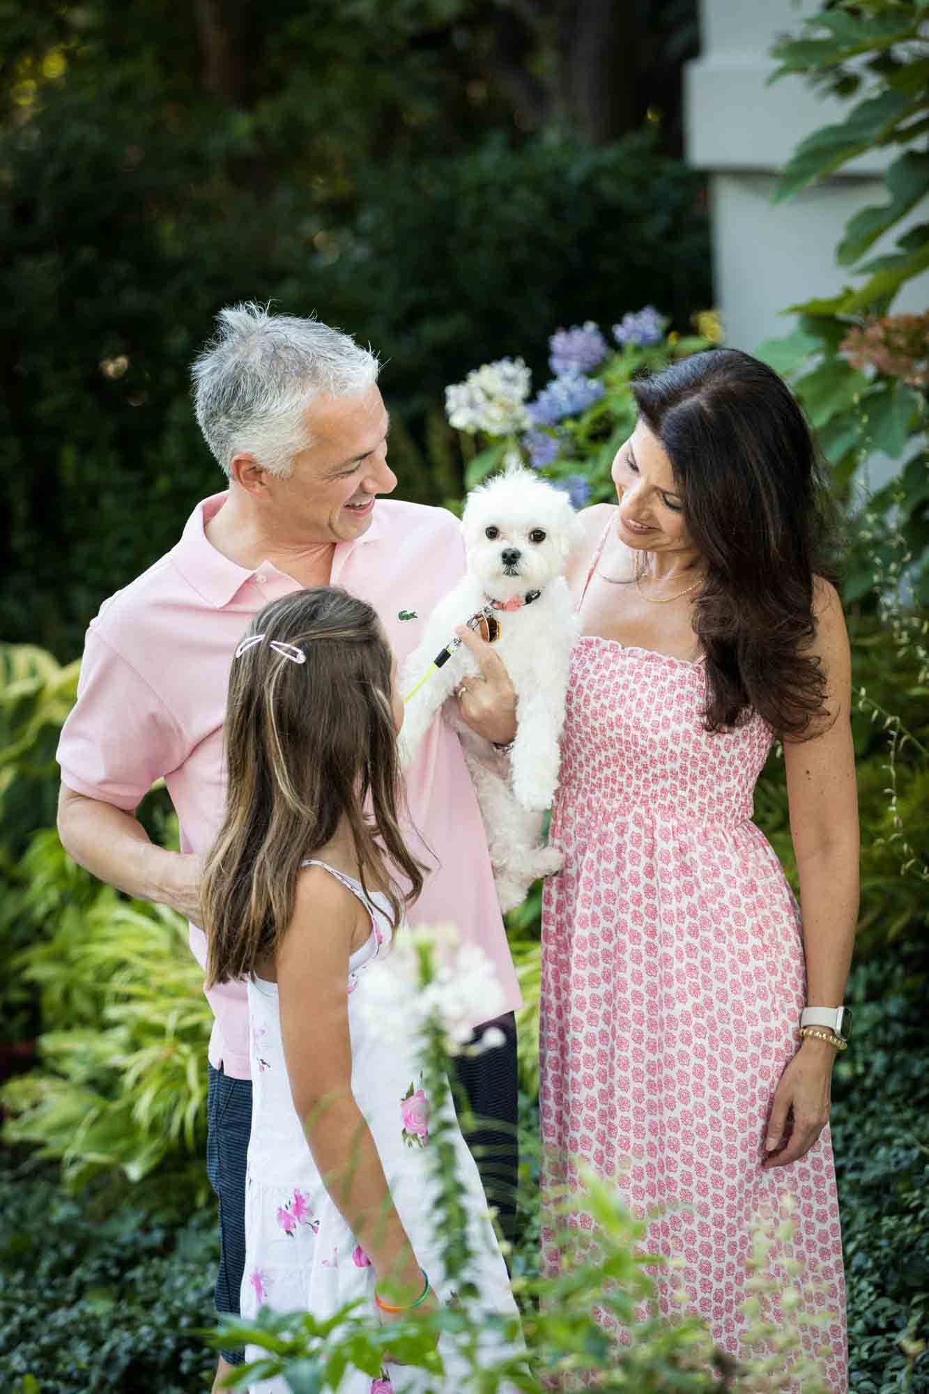
[[[771,81],[803,74],[836,96],[861,98],[838,125],[826,125],[802,141],[788,160],[777,198],[791,198],[816,178],[831,174],[865,151],[902,146],[884,178],[890,201],[855,213],[838,247],[851,266],[873,243],[929,195],[929,59],[922,0],[837,0],[803,21],[803,36],[774,49],[781,60]],[[898,252],[861,270],[859,290],[798,307],[808,314],[837,315],[875,309],[882,314],[900,287],[929,266],[929,223],[897,243]]]

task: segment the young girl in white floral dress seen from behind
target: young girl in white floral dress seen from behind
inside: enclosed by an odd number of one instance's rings
[[[364,1009],[405,901],[423,887],[398,825],[402,721],[378,618],[342,590],[265,606],[236,651],[226,814],[202,899],[208,984],[250,980],[244,1319],[261,1306],[325,1319],[365,1298],[391,1322],[452,1298],[431,1220],[430,1100],[414,1043],[385,1041]],[[406,896],[388,859],[411,887]],[[469,1277],[483,1309],[513,1313],[477,1167],[460,1132],[455,1142],[470,1197]],[[451,1388],[463,1368],[445,1347]],[[403,1373],[405,1388],[425,1380]],[[371,1386],[349,1372],[342,1388]]]

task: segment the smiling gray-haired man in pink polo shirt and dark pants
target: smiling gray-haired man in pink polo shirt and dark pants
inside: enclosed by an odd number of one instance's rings
[[[398,664],[417,645],[437,601],[464,569],[460,530],[444,509],[399,500],[386,463],[389,417],[378,361],[347,335],[246,304],[222,311],[194,364],[197,420],[229,488],[199,503],[172,551],[91,622],[78,700],[61,732],[59,832],[102,881],[169,905],[190,920],[201,965],[199,878],[223,813],[222,732],[230,662],[252,615],[310,585],[338,584],[370,601]],[[484,682],[459,698],[480,735],[515,735],[506,672],[469,634]],[[181,850],[153,846],[135,817],[163,776]],[[516,1181],[519,987],[494,892],[487,842],[458,737],[435,722],[407,772],[410,845],[435,871],[413,923],[455,917],[480,944],[506,1001],[505,1046],[456,1062],[491,1203],[512,1221]],[[417,843],[417,829],[423,842]],[[208,1170],[219,1197],[219,1312],[237,1313],[244,1264],[246,1151],[251,1118],[244,983],[211,988]],[[491,1023],[476,1022],[480,1032]],[[218,1379],[240,1352],[223,1352]]]

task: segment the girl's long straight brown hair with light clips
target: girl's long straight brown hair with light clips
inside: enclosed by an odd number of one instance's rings
[[[264,638],[233,659],[229,677],[226,813],[202,885],[208,987],[273,956],[293,917],[300,863],[343,818],[361,885],[386,892],[395,924],[423,889],[424,867],[399,827],[391,650],[375,611],[318,585],[266,605],[246,637],[257,634]],[[294,645],[305,662],[272,641]]]

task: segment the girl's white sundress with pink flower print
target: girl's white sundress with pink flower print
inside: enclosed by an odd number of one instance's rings
[[[322,866],[350,889],[371,914],[371,937],[349,960],[349,1029],[352,1034],[352,1090],[384,1165],[391,1196],[418,1262],[442,1302],[455,1294],[446,1281],[441,1245],[431,1211],[435,1185],[430,1177],[430,1100],[420,1080],[413,1040],[378,1030],[377,1009],[365,1011],[365,995],[377,999],[374,974],[386,970],[392,938],[386,898],[365,896],[352,877]],[[312,1004],[307,1004],[312,1009]],[[374,1312],[374,1271],[342,1214],[329,1199],[293,1107],[280,1039],[278,987],[261,979],[248,984],[252,1115],[246,1186],[246,1271],[241,1315],[254,1317],[261,1306],[280,1312],[311,1310],[325,1319],[343,1303],[367,1298]],[[453,1108],[448,1103],[451,1117]],[[470,1200],[470,1238],[474,1253],[469,1274],[487,1312],[515,1313],[506,1266],[487,1214],[487,1200],[474,1160],[455,1124],[458,1172]],[[464,1366],[442,1338],[439,1345],[446,1387],[460,1388]],[[248,1347],[246,1359],[262,1352]],[[403,1390],[435,1388],[435,1379],[403,1366]],[[252,1394],[287,1394],[283,1380],[248,1386]],[[340,1394],[389,1394],[391,1368],[371,1380],[349,1370]]]

